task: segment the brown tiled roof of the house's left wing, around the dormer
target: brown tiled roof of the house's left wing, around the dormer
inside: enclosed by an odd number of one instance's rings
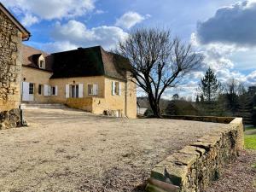
[[[38,58],[44,55],[45,70],[52,71],[52,58],[51,55],[42,50],[34,49],[30,46],[22,44],[22,65],[26,67],[38,68]]]

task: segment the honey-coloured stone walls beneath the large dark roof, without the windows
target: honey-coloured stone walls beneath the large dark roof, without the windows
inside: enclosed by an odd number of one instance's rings
[[[112,82],[104,76],[70,78],[70,79],[50,79],[50,85],[58,87],[57,96],[49,96],[49,102],[64,103],[71,108],[79,108],[91,113],[103,114],[118,112],[121,117],[135,119],[137,117],[137,93],[136,84],[131,81],[120,81],[120,95],[112,95]],[[83,98],[66,98],[66,84],[83,84]],[[98,95],[88,95],[88,84],[98,85]]]

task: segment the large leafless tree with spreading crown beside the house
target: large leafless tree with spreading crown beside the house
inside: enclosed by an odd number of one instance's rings
[[[140,28],[131,32],[117,49],[131,62],[131,79],[148,94],[155,117],[160,117],[160,98],[175,87],[201,61],[190,44],[172,38],[169,30]]]

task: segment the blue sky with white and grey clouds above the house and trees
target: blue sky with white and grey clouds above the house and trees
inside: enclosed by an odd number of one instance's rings
[[[256,85],[256,0],[0,0],[32,33],[25,44],[49,53],[113,49],[135,27],[170,28],[204,55],[172,94],[195,97],[208,67],[224,83]]]

